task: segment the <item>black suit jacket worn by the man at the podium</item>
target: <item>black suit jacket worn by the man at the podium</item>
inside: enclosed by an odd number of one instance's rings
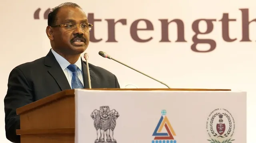
[[[120,88],[116,76],[111,72],[92,64],[89,64],[89,69],[92,88]],[[84,61],[82,71],[84,88],[89,88]],[[20,143],[20,136],[16,135],[16,129],[20,129],[17,108],[66,89],[71,89],[70,84],[51,51],[46,57],[15,67],[10,72],[4,98],[6,138]]]

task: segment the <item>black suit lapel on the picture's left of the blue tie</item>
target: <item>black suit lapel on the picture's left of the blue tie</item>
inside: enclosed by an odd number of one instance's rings
[[[64,72],[51,51],[46,55],[44,65],[49,67],[48,72],[56,80],[61,90],[71,89]]]

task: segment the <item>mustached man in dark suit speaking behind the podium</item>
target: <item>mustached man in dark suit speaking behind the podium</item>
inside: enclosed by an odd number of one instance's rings
[[[48,14],[46,34],[52,49],[35,61],[15,67],[8,78],[4,98],[6,138],[20,143],[16,109],[66,89],[89,88],[86,63],[80,57],[89,44],[90,29],[82,8],[66,2]],[[89,64],[92,88],[120,88],[111,72]]]

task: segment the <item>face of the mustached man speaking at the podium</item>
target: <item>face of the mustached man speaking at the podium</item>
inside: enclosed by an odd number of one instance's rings
[[[87,17],[80,8],[60,8],[55,25],[67,23],[77,24],[76,28],[71,28],[72,25],[52,27],[54,47],[65,55],[81,54],[88,47],[90,38],[89,28],[80,27],[80,24],[88,23]]]

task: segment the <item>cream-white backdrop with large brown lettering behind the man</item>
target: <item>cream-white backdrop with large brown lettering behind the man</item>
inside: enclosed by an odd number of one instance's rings
[[[2,1],[1,12],[1,56],[2,61],[0,78],[0,96],[4,98],[7,90],[7,80],[10,71],[19,64],[33,61],[45,56],[50,49],[50,42],[46,36],[45,29],[47,20],[44,20],[44,11],[48,8],[66,2],[64,0],[12,0]],[[88,49],[90,63],[103,67],[116,74],[120,86],[134,84],[138,88],[165,88],[165,86],[147,78],[98,55],[98,51],[105,51],[112,57],[152,75],[166,82],[172,88],[229,88],[232,90],[245,90],[248,92],[248,143],[254,141],[253,129],[256,127],[256,110],[254,87],[256,84],[256,68],[254,63],[256,57],[256,22],[251,22],[249,29],[248,20],[256,18],[256,3],[252,0],[94,0],[76,2],[86,13],[94,14],[95,19],[93,31],[96,39],[102,38],[100,42],[90,42]],[[41,8],[40,19],[34,19],[34,12]],[[244,9],[244,10],[240,10]],[[248,14],[246,13],[248,10]],[[223,15],[224,14],[224,15]],[[236,21],[220,21],[229,16]],[[92,17],[90,17],[92,18]],[[126,19],[126,25],[117,23],[115,32],[108,31],[108,22]],[[130,27],[138,19],[146,19],[151,22],[147,31],[138,31],[141,39],[152,40],[148,42],[137,42],[132,36]],[[168,27],[169,40],[171,42],[160,42],[166,35],[166,27],[161,25],[159,19],[179,19],[179,34],[177,25],[172,22]],[[198,39],[213,39],[216,48],[213,51],[200,53],[191,49],[192,37],[196,31],[198,19],[213,19],[213,29],[208,28],[206,22],[199,23],[201,32],[209,31],[208,34],[198,35]],[[247,22],[246,22],[247,20]],[[122,20],[124,21],[124,20]],[[162,20],[163,21],[163,20]],[[184,39],[182,41],[182,22],[184,24]],[[193,24],[194,22],[194,24]],[[91,22],[92,23],[92,22]],[[164,22],[162,22],[164,23]],[[124,23],[125,24],[125,23]],[[134,25],[134,24],[133,24]],[[136,25],[135,25],[136,26]],[[208,27],[211,24],[208,23]],[[138,28],[145,29],[145,22],[140,22]],[[228,31],[229,30],[229,31]],[[229,33],[228,33],[229,32]],[[246,35],[246,33],[248,33]],[[106,42],[108,35],[115,34],[116,41]],[[224,34],[224,38],[222,37]],[[227,34],[235,41],[227,42]],[[178,38],[178,35],[181,37]],[[248,37],[250,41],[248,40]],[[91,38],[92,39],[92,38]],[[163,36],[166,40],[167,37]],[[242,40],[243,39],[243,40]],[[242,40],[242,41],[241,41]],[[201,42],[202,43],[202,42]],[[208,50],[209,44],[198,44],[198,50]],[[8,143],[4,130],[4,105],[3,100],[0,108],[0,142]]]

